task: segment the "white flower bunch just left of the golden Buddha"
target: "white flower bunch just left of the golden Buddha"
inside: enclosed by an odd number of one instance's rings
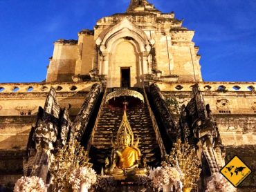
[[[97,175],[91,167],[80,167],[71,171],[69,183],[72,185],[73,191],[80,191],[80,186],[84,184],[87,189],[97,181]]]

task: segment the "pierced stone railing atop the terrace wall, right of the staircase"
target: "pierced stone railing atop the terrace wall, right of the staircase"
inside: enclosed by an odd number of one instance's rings
[[[161,91],[192,91],[194,82],[157,82],[156,83]],[[212,82],[199,82],[201,91],[216,91],[216,92],[255,92],[256,82],[225,82],[225,81],[212,81]]]

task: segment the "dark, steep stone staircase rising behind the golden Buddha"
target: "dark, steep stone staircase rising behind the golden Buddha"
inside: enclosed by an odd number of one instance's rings
[[[93,135],[93,142],[89,151],[89,157],[96,171],[100,171],[105,164],[105,158],[111,156],[111,139],[116,140],[116,134],[122,121],[123,111],[112,111],[107,104],[103,104],[102,112],[98,120],[98,126]],[[152,126],[152,120],[146,104],[136,108],[127,108],[127,118],[131,125],[134,137],[138,136],[138,147],[142,155],[145,155],[148,166],[159,166],[161,163],[161,151],[156,141],[156,133]]]

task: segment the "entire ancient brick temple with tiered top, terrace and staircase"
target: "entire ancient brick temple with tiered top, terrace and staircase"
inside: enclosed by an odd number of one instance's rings
[[[73,135],[100,172],[123,101],[149,166],[180,138],[201,147],[201,190],[234,155],[253,171],[239,190],[255,188],[256,82],[203,81],[194,30],[182,24],[173,12],[131,0],[77,40],[55,41],[45,82],[0,84],[1,189],[21,175],[48,182],[51,150]]]

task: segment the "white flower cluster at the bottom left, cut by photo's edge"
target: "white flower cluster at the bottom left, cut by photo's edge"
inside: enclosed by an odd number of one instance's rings
[[[42,178],[37,176],[21,177],[15,184],[15,192],[46,192],[47,186]]]

